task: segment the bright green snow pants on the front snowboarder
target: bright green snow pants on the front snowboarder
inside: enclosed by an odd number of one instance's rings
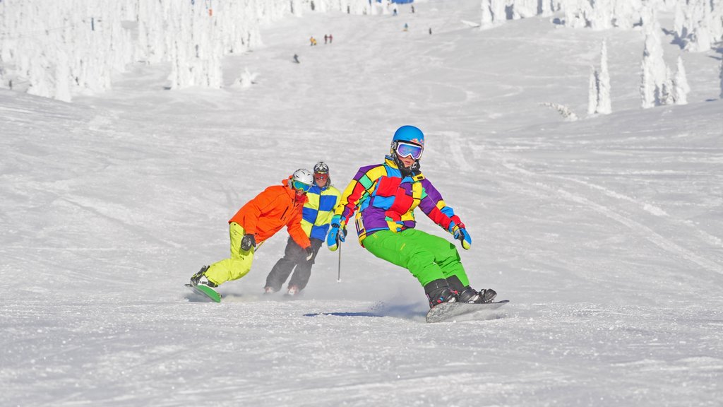
[[[452,276],[457,276],[464,287],[469,285],[457,248],[438,236],[416,229],[398,233],[380,230],[364,238],[362,243],[378,258],[408,269],[423,287]]]

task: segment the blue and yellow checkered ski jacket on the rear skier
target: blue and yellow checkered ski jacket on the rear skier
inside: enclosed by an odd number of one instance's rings
[[[307,192],[309,201],[304,204],[301,229],[309,238],[324,240],[329,231],[329,222],[334,216],[334,208],[341,197],[341,192],[332,185],[324,188],[313,185]]]

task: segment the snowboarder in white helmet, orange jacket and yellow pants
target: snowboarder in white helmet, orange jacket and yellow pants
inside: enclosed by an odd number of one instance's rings
[[[314,177],[308,169],[297,169],[281,185],[272,185],[247,202],[228,221],[231,258],[201,267],[191,276],[191,284],[216,288],[224,282],[244,277],[251,270],[255,248],[283,226],[306,253],[307,259],[311,259],[314,251],[301,229],[301,209],[307,203],[307,191],[313,183]]]

